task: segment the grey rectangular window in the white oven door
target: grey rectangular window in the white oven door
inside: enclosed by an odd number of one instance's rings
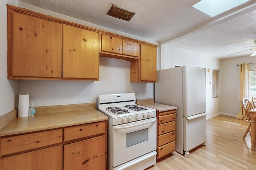
[[[126,134],[126,148],[148,141],[148,128]]]

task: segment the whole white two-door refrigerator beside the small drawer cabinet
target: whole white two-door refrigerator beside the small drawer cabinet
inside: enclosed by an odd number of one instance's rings
[[[155,102],[176,106],[175,150],[185,157],[206,142],[205,68],[180,66],[157,71]]]

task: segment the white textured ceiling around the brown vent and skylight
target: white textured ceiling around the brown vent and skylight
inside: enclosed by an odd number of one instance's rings
[[[256,0],[214,18],[199,0],[18,0],[46,10],[216,58],[250,56],[256,40]],[[130,21],[106,15],[111,4],[136,12]]]

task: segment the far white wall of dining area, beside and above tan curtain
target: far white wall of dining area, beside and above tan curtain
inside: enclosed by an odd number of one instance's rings
[[[220,109],[224,114],[236,116],[240,111],[240,79],[241,63],[255,63],[256,57],[237,57],[220,61]]]

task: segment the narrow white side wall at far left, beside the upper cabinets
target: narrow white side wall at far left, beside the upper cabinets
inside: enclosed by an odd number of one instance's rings
[[[17,0],[0,1],[0,116],[16,108],[17,80],[7,79],[7,7],[16,5]]]

